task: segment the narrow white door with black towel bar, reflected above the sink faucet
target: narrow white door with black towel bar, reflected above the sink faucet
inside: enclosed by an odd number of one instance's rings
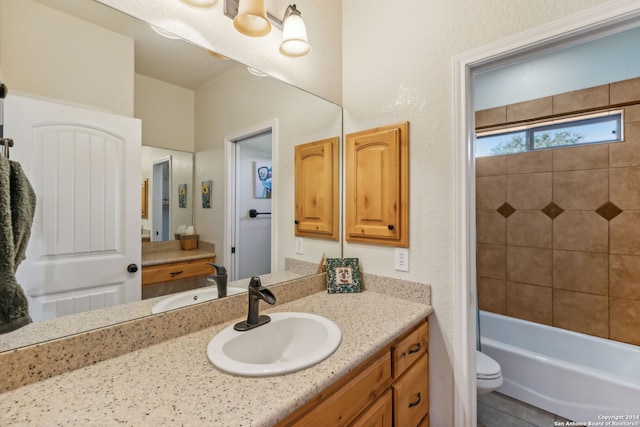
[[[268,132],[235,143],[235,280],[271,273],[271,139]]]

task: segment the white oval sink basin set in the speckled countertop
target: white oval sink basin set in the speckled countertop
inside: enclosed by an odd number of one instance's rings
[[[218,333],[207,357],[221,371],[266,377],[313,366],[340,345],[342,333],[331,320],[310,313],[272,313],[271,322],[245,332],[233,325]]]

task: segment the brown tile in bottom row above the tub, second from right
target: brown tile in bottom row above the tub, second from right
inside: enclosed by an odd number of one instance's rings
[[[553,326],[608,338],[609,298],[554,289]]]

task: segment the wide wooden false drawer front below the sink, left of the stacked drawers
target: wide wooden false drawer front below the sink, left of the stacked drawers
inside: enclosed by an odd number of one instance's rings
[[[380,358],[367,364],[367,368],[345,384],[328,394],[320,393],[313,399],[318,402],[310,412],[298,418],[294,423],[281,425],[296,426],[344,426],[359,415],[378,396],[388,389],[391,383],[391,360],[386,352]]]

